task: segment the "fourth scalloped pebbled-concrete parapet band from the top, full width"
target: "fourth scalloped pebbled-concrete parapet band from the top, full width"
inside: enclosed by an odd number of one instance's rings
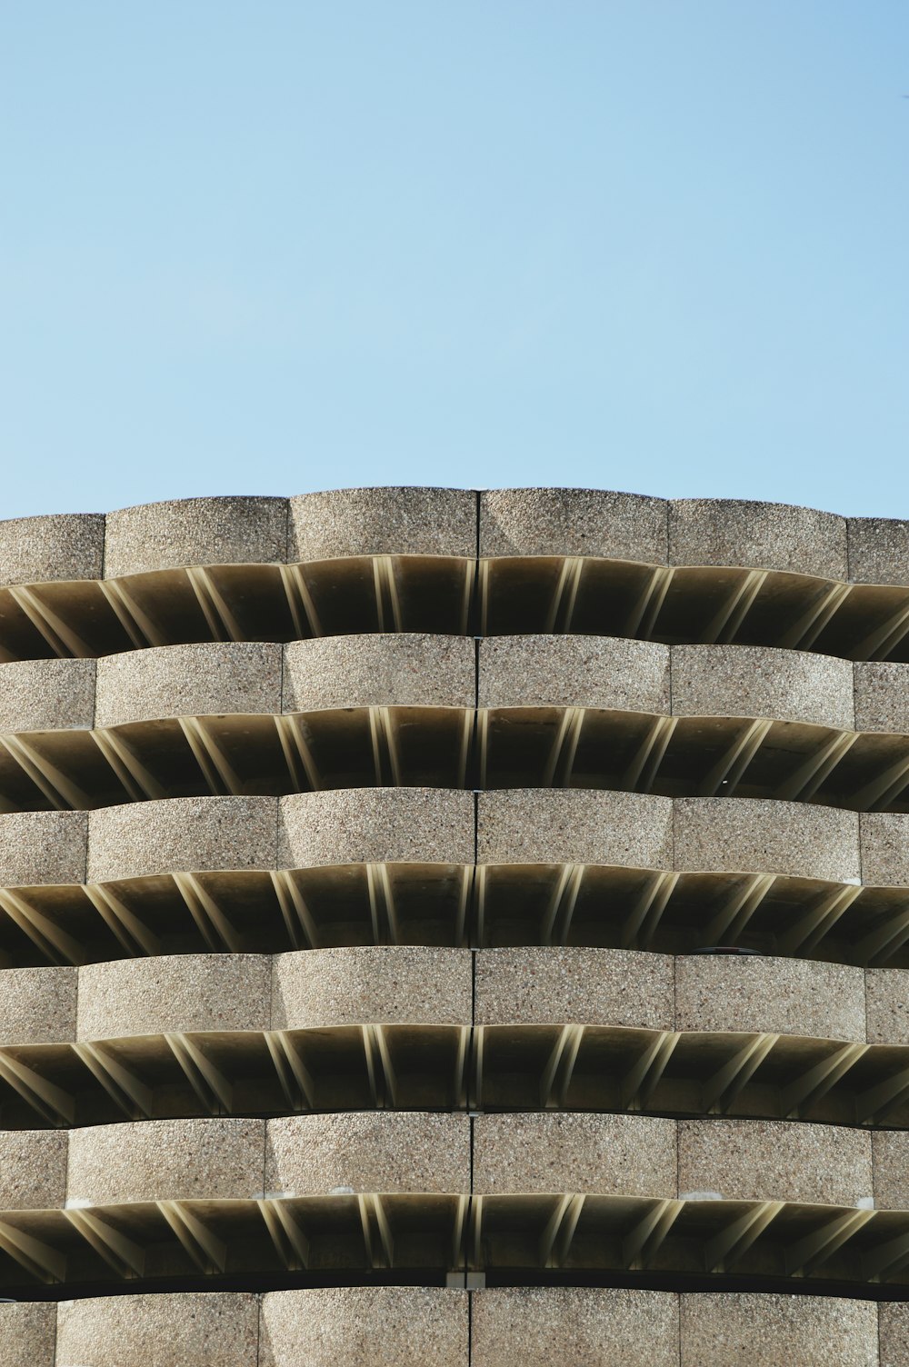
[[[0,1044],[343,1025],[608,1025],[909,1046],[905,969],[424,946],[171,954],[3,971]],[[78,1005],[77,1005],[78,1002]],[[867,1025],[865,1025],[867,1017]],[[78,1018],[78,1024],[77,1024]]]

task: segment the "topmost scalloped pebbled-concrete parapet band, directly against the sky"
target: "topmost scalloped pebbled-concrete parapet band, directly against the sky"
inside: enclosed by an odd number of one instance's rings
[[[597,556],[906,584],[909,522],[606,489],[375,488],[198,498],[0,522],[0,582],[362,555]]]

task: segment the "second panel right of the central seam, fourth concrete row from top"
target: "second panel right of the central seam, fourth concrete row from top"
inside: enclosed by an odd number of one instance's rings
[[[861,1043],[864,972],[796,958],[690,956],[675,961],[675,1028],[767,1031]]]

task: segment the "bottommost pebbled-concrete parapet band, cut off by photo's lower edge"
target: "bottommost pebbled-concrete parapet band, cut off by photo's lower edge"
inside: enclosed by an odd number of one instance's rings
[[[905,1304],[749,1292],[422,1286],[109,1296],[0,1305],[4,1367],[906,1367]],[[56,1333],[56,1353],[53,1348]],[[681,1353],[681,1356],[679,1356]]]

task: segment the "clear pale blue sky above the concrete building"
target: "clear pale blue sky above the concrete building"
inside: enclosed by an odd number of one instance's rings
[[[0,517],[909,517],[905,0],[0,5]]]

